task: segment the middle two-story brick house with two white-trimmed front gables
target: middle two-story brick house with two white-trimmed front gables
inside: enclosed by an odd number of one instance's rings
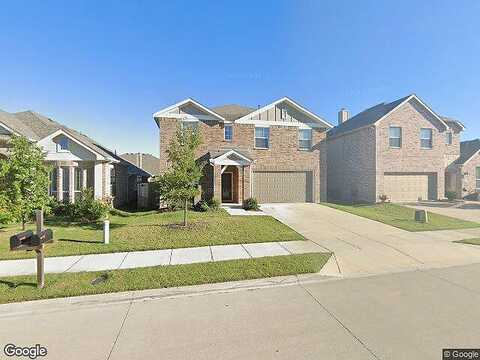
[[[186,99],[158,111],[160,173],[179,126],[200,131],[198,158],[207,162],[202,198],[242,203],[326,200],[326,131],[332,126],[284,97],[258,109],[239,105],[208,108]]]

